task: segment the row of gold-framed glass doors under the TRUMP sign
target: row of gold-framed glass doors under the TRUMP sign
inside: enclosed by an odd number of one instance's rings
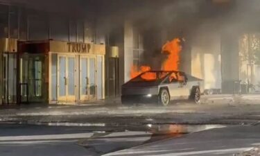
[[[57,58],[57,101],[62,103],[103,98],[103,56],[58,54]],[[53,76],[54,71],[51,71]]]

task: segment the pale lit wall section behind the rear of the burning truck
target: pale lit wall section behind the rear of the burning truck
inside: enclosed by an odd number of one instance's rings
[[[207,25],[205,27],[210,27]],[[205,89],[221,88],[220,35],[202,27],[191,44],[191,75],[204,80]],[[189,53],[187,53],[189,55]],[[187,56],[187,61],[189,60]],[[189,69],[187,69],[189,70]]]

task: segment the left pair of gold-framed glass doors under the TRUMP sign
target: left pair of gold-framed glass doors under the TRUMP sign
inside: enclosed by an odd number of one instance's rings
[[[58,55],[58,101],[76,101],[76,58]]]

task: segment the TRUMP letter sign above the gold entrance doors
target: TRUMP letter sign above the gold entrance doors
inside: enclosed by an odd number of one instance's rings
[[[91,49],[90,44],[68,42],[67,45],[71,53],[89,53]]]

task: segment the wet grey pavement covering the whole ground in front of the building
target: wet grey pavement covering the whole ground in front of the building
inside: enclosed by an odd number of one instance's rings
[[[256,101],[250,103],[248,97],[244,96],[241,96],[240,99],[247,99],[247,103],[242,103],[243,101],[241,102],[237,98],[230,100],[229,96],[214,96],[214,98],[214,100],[211,99],[214,102],[208,100],[200,105],[181,101],[168,107],[99,103],[98,105],[33,105],[33,107],[26,105],[10,109],[3,108],[0,109],[0,155],[21,155],[21,153],[22,155],[36,153],[35,155],[39,156],[42,153],[65,156],[103,155],[126,148],[130,148],[132,153],[132,147],[146,146],[153,142],[158,146],[155,150],[149,149],[148,152],[141,150],[140,153],[126,154],[208,155],[210,153],[211,155],[214,153],[215,155],[216,153],[236,153],[252,147],[254,143],[251,145],[250,141],[248,144],[242,144],[243,141],[241,141],[241,147],[229,147],[227,141],[228,148],[212,149],[209,146],[205,146],[205,149],[202,146],[194,148],[192,146],[195,143],[187,143],[198,139],[201,144],[211,144],[209,139],[203,140],[205,139],[204,134],[209,135],[205,130],[210,128],[223,129],[227,134],[234,130],[238,133],[234,133],[234,136],[239,137],[239,134],[243,133],[241,131],[243,127],[251,128],[252,125],[259,125],[260,103]],[[256,97],[250,96],[250,98]],[[243,127],[234,127],[234,125]],[[226,126],[234,129],[225,128]],[[251,131],[255,133],[254,126],[252,128]],[[214,138],[218,131],[209,131],[212,132],[213,139],[218,140]],[[247,131],[245,130],[245,132]],[[198,138],[191,137],[189,140],[193,133],[202,135],[198,135],[200,136]],[[232,134],[229,135],[232,136]],[[243,135],[251,136],[247,133],[243,133]],[[170,149],[170,144],[166,144],[165,147],[159,145],[165,139],[166,141],[175,139],[180,141],[181,139],[181,141],[187,142],[183,142],[179,146],[171,143],[175,149]],[[224,138],[221,140],[220,137],[217,146],[223,140],[226,141]],[[200,141],[196,144],[199,145]],[[244,141],[247,141],[246,138]],[[12,150],[14,146],[17,147],[16,150]],[[185,148],[183,148],[184,146]],[[163,152],[159,151],[160,148]],[[71,152],[66,152],[67,150]],[[139,152],[139,150],[137,151]]]

